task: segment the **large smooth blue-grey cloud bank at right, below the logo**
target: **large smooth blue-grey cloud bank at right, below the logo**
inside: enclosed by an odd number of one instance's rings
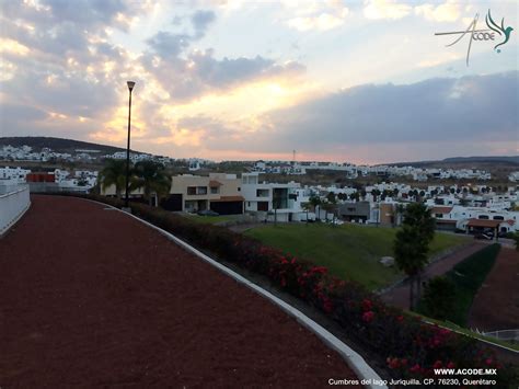
[[[518,72],[362,85],[268,115],[278,141],[452,141],[517,136]]]

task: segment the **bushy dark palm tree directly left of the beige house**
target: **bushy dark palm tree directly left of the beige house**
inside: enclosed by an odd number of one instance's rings
[[[149,205],[153,205],[153,196],[159,198],[170,193],[171,178],[165,173],[164,165],[153,161],[140,161],[135,164],[130,188],[142,188]]]

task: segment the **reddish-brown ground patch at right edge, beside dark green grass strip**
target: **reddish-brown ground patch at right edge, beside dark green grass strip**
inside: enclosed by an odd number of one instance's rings
[[[482,331],[519,329],[519,253],[501,248],[474,298],[469,327]]]

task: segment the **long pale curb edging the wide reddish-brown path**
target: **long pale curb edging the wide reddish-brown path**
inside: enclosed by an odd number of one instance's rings
[[[91,199],[88,199],[91,201]],[[253,291],[257,293],[262,297],[267,298],[275,305],[277,305],[279,308],[281,308],[286,313],[290,314],[301,325],[307,328],[308,330],[312,331],[315,335],[318,335],[324,344],[326,344],[328,347],[332,350],[336,351],[343,359],[346,362],[346,364],[355,371],[355,374],[358,376],[359,380],[368,380],[369,382],[373,382],[377,380],[378,382],[384,382],[384,380],[374,371],[367,363],[366,361],[353,348],[350,348],[348,345],[343,343],[339,339],[337,339],[335,335],[333,335],[331,332],[328,332],[326,329],[324,329],[322,325],[318,324],[315,321],[303,314],[300,310],[293,308],[289,304],[285,302],[280,298],[274,296],[269,291],[263,289],[262,287],[257,286],[256,284],[250,282],[242,275],[233,272],[229,267],[222,265],[221,263],[212,260],[210,256],[204,254],[203,252],[198,251],[194,247],[189,245],[188,243],[184,242],[180,238],[175,237],[174,234],[135,216],[131,214],[128,214],[126,211],[123,211],[116,207],[113,207],[108,204],[100,203],[96,201],[91,201],[93,203],[103,205],[104,207],[108,208],[114,208],[117,209],[118,211],[132,217],[134,219],[142,222],[143,225],[151,227],[165,236],[168,239],[171,241],[175,242],[180,247],[182,247],[184,250],[191,252],[192,254],[198,256],[203,261],[209,263],[210,265],[215,266],[218,268],[220,272],[224,273],[226,275],[232,277],[237,282],[247,286],[251,288]],[[332,378],[332,377],[331,377]],[[371,389],[388,389],[387,385],[374,385],[374,384],[369,384],[365,385],[366,388],[371,388]]]

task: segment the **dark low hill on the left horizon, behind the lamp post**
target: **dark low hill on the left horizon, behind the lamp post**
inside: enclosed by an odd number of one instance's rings
[[[0,137],[0,146],[11,145],[13,147],[30,146],[39,151],[44,147],[50,148],[56,152],[74,153],[77,149],[100,150],[101,153],[114,153],[125,151],[125,148],[91,144],[88,141],[53,138],[53,137]]]

